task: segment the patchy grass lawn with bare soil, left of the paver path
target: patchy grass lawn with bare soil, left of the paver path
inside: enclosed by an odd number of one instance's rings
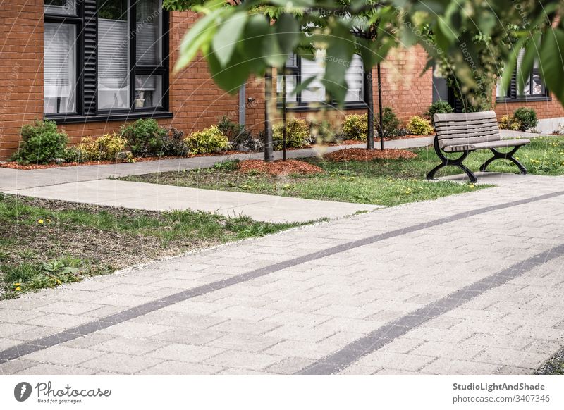
[[[0,299],[296,225],[0,193]]]

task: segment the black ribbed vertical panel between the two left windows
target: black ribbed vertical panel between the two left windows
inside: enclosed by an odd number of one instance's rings
[[[84,115],[95,116],[97,113],[97,1],[84,0]]]

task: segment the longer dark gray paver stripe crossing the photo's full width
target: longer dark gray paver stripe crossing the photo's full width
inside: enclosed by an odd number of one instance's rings
[[[355,240],[347,242],[345,244],[336,245],[321,251],[312,252],[304,256],[299,256],[297,258],[289,259],[288,261],[274,263],[264,268],[255,269],[255,271],[250,271],[243,273],[241,275],[235,275],[232,278],[218,280],[216,282],[209,283],[207,285],[202,285],[199,287],[194,287],[192,289],[184,290],[183,292],[178,292],[171,294],[170,296],[163,297],[161,299],[154,300],[153,302],[147,302],[139,306],[134,306],[125,311],[115,313],[110,316],[105,316],[104,318],[99,318],[96,321],[91,321],[83,325],[76,326],[75,328],[63,330],[54,335],[47,337],[41,337],[30,342],[24,342],[22,344],[17,344],[16,346],[10,347],[0,352],[0,364],[5,363],[13,359],[18,359],[18,357],[25,354],[30,354],[33,352],[38,352],[42,349],[47,349],[47,347],[55,346],[63,342],[68,342],[69,340],[77,339],[78,337],[89,335],[97,330],[102,330],[109,328],[112,325],[118,323],[123,323],[133,318],[145,315],[152,311],[157,311],[158,309],[164,308],[166,306],[171,306],[178,302],[183,302],[187,299],[192,299],[193,297],[201,296],[215,290],[224,289],[226,287],[237,285],[242,282],[247,282],[255,278],[260,278],[264,275],[269,275],[269,273],[274,273],[281,271],[285,268],[290,268],[291,266],[300,265],[301,263],[306,263],[309,261],[314,261],[316,259],[324,258],[325,256],[330,256],[333,254],[338,254],[340,252],[348,251],[357,247],[362,247],[367,244],[372,244],[374,242],[379,242],[382,240],[387,240],[392,237],[398,237],[400,235],[405,235],[410,232],[415,232],[417,230],[422,230],[425,228],[431,228],[437,225],[443,225],[445,223],[454,222],[455,220],[460,220],[464,218],[469,218],[470,216],[479,215],[481,213],[497,211],[499,209],[506,209],[512,206],[530,204],[536,201],[542,201],[544,199],[551,199],[554,197],[560,197],[564,195],[564,191],[551,192],[550,194],[539,195],[537,197],[531,197],[527,199],[520,199],[518,201],[505,202],[503,204],[484,206],[482,208],[473,209],[472,211],[455,213],[454,215],[447,216],[445,218],[439,218],[436,220],[431,220],[426,223],[417,223],[416,225],[407,226],[405,228],[400,228],[396,230],[391,230],[389,232],[384,232],[378,235],[373,235],[370,237],[363,238],[362,240]]]

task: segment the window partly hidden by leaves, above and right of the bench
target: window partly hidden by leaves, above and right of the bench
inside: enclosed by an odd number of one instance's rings
[[[496,88],[496,99],[499,100],[534,100],[534,99],[548,99],[548,90],[541,79],[541,72],[539,62],[534,61],[531,73],[525,77],[525,87],[523,87],[522,94],[518,92],[517,73],[520,71],[521,62],[525,55],[525,49],[521,49],[517,55],[517,67],[515,73],[511,78],[508,89],[503,89],[501,79],[498,81]]]

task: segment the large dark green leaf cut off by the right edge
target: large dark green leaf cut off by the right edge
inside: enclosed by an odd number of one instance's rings
[[[546,87],[564,104],[564,31],[560,28],[545,30],[541,43],[541,75]]]

